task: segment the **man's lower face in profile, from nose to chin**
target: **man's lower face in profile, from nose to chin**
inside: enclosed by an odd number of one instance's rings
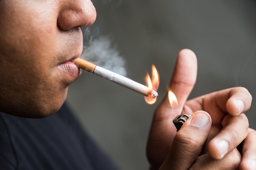
[[[0,1],[0,111],[23,117],[56,112],[79,77],[80,27],[96,11],[90,0]]]

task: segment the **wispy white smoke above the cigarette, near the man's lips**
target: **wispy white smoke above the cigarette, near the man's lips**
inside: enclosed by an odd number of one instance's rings
[[[126,76],[125,61],[117,50],[117,46],[112,44],[110,37],[99,36],[98,28],[93,31],[90,28],[86,28],[84,41],[85,46],[81,58]]]

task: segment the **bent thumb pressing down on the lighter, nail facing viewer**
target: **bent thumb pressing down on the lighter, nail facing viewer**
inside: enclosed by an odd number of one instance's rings
[[[196,111],[174,137],[171,149],[160,170],[187,170],[198,158],[211,128],[211,117]]]

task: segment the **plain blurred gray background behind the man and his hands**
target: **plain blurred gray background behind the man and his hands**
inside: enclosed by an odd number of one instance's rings
[[[190,98],[234,86],[256,96],[256,2],[253,0],[95,0],[100,35],[108,35],[126,61],[127,76],[144,84],[155,64],[159,98],[144,97],[83,72],[67,101],[80,122],[123,170],[145,170],[146,140],[153,111],[166,92],[177,53],[198,57]],[[256,102],[247,112],[256,129]]]

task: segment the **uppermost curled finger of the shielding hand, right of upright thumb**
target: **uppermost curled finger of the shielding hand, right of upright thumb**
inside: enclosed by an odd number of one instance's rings
[[[193,108],[193,111],[207,111],[219,123],[219,118],[223,118],[226,113],[238,116],[247,111],[251,103],[252,95],[245,87],[233,87],[188,100],[186,105]],[[213,123],[216,121],[213,120]]]

